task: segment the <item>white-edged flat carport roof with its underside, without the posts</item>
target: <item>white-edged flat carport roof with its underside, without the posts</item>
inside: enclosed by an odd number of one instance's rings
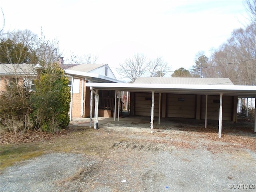
[[[229,96],[256,97],[256,86],[241,85],[86,83],[86,86],[98,90],[208,95],[223,93]]]

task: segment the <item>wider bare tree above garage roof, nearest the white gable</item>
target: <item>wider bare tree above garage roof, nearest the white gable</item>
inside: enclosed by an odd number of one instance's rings
[[[123,64],[119,64],[118,72],[124,77],[134,82],[136,78],[146,74],[151,62],[147,60],[144,54],[134,54],[132,58],[128,58]]]

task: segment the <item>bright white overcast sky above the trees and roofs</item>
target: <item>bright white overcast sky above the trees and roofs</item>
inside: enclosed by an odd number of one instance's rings
[[[58,40],[64,63],[91,54],[115,74],[134,54],[191,69],[198,52],[210,56],[247,21],[243,0],[0,0],[0,8],[5,31],[42,31]]]

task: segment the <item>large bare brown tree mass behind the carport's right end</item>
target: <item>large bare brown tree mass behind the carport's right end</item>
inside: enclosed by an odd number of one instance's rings
[[[234,84],[256,85],[256,24],[236,29],[213,56],[218,77]]]

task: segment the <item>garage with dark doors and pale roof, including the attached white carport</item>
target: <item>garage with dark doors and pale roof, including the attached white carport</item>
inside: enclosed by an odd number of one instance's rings
[[[94,92],[129,91],[130,115],[150,116],[151,132],[154,116],[158,116],[159,123],[161,118],[166,117],[204,119],[205,127],[208,119],[215,119],[219,120],[219,137],[222,120],[237,120],[238,98],[256,96],[256,86],[234,85],[228,78],[153,77],[138,78],[134,84],[88,83],[86,86],[90,86]]]

